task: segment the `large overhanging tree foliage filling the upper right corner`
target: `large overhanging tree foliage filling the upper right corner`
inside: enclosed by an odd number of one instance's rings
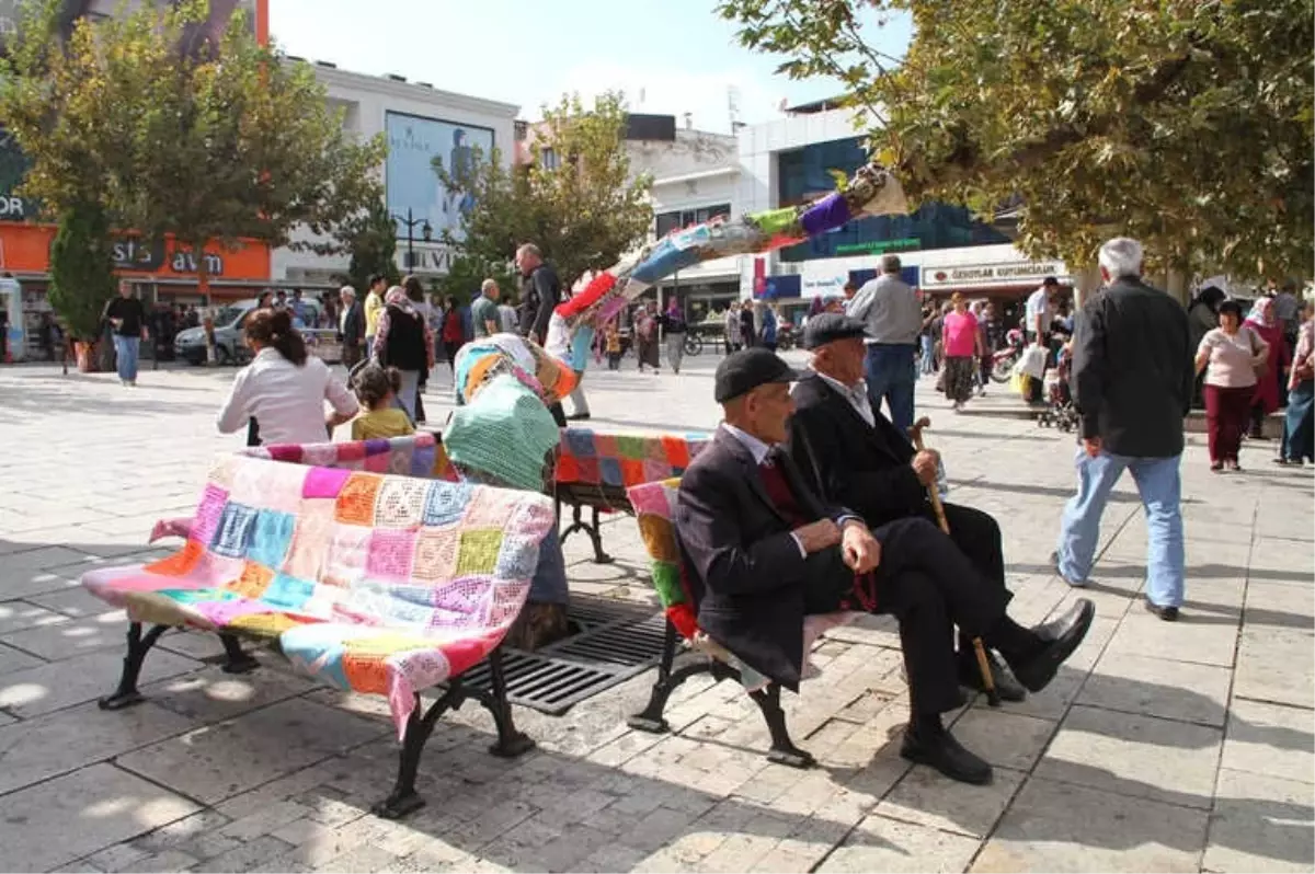
[[[915,200],[1020,200],[1020,244],[1090,263],[1111,231],[1169,265],[1315,271],[1306,0],[722,0],[750,49],[832,76]],[[913,17],[902,60],[872,45]]]

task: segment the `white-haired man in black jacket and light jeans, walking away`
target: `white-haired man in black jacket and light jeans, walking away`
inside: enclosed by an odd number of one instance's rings
[[[1178,464],[1194,350],[1182,305],[1141,281],[1143,258],[1135,239],[1105,243],[1105,287],[1077,318],[1072,386],[1082,423],[1078,490],[1064,510],[1052,559],[1069,585],[1086,584],[1105,505],[1131,471],[1147,518],[1145,607],[1173,622],[1184,599]]]

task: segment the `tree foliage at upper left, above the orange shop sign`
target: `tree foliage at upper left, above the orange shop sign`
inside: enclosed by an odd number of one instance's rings
[[[0,124],[32,159],[22,192],[53,214],[96,202],[120,229],[199,252],[330,234],[380,200],[383,138],[355,142],[309,66],[259,45],[243,14],[183,51],[204,0],[83,18],[64,43],[60,5],[32,4],[0,85]]]

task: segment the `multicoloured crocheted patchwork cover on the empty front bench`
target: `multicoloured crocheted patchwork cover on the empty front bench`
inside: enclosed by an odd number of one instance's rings
[[[417,691],[502,641],[552,524],[533,492],[226,455],[179,552],[82,584],[133,622],[276,643],[323,682],[385,695],[401,735]]]

